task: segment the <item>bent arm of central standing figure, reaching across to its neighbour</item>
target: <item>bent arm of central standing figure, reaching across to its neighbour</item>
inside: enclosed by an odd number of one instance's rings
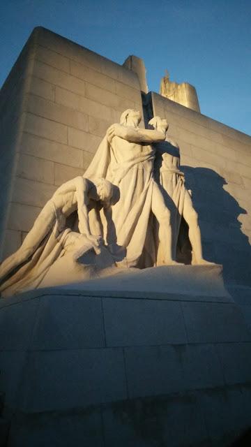
[[[112,141],[114,136],[123,138],[130,142],[159,142],[165,140],[165,131],[150,129],[134,129],[133,127],[123,126],[122,124],[112,124],[107,130],[107,138]]]

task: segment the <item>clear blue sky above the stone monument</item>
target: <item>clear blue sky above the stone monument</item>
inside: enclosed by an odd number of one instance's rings
[[[149,89],[190,82],[201,112],[251,134],[250,0],[1,0],[0,85],[38,25],[119,64],[144,59]]]

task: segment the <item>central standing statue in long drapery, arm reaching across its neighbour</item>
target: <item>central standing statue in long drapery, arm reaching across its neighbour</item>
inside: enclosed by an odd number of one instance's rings
[[[165,140],[165,130],[139,129],[140,120],[137,110],[123,112],[120,124],[107,130],[85,175],[92,178],[98,172],[119,186],[119,202],[106,210],[107,244],[117,265],[144,268],[155,263],[154,245],[147,240],[151,212],[159,222],[159,238],[165,245],[161,263],[174,261],[170,213],[153,180],[155,150],[151,145]]]

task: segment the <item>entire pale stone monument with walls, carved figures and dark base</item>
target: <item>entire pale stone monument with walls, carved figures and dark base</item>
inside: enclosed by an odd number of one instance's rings
[[[144,75],[37,28],[1,90],[10,447],[227,446],[251,425],[251,138]]]

